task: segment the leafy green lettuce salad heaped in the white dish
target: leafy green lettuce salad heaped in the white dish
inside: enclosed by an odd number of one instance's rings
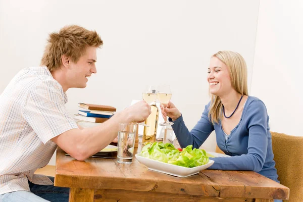
[[[164,144],[163,142],[147,143],[142,148],[140,155],[148,159],[187,168],[205,165],[209,162],[204,149],[192,149],[192,145],[188,145],[186,148],[178,150],[173,144]]]

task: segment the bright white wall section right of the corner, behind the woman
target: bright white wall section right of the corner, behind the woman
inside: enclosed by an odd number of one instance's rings
[[[260,2],[251,95],[263,100],[272,131],[303,136],[303,2]]]

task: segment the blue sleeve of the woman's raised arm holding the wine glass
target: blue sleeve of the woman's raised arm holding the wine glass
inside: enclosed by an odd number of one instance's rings
[[[199,148],[214,130],[214,126],[208,118],[209,107],[210,103],[205,106],[200,120],[190,132],[183,121],[182,115],[174,121],[172,128],[182,148],[190,144],[193,148]],[[172,121],[171,118],[169,120]]]

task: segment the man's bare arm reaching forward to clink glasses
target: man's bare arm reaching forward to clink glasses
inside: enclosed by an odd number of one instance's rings
[[[108,121],[92,128],[68,130],[52,140],[66,153],[78,161],[84,161],[109,145],[118,134],[119,123],[140,122],[150,114],[150,107],[144,101],[116,113]]]

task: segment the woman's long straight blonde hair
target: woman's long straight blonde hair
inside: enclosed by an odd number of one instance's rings
[[[241,95],[248,95],[247,89],[247,68],[243,57],[231,51],[219,51],[212,57],[218,58],[224,63],[229,71],[232,87]],[[219,123],[222,119],[222,102],[219,96],[211,94],[211,105],[209,119],[213,124]]]

